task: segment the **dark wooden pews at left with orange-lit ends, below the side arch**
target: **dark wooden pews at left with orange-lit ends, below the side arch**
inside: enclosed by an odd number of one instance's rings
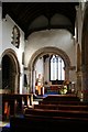
[[[23,106],[28,106],[28,100],[31,103],[31,95],[19,94],[2,94],[2,120],[7,117],[23,112]]]

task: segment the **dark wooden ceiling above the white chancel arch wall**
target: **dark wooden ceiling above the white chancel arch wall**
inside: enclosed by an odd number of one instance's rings
[[[28,37],[32,32],[45,30],[45,29],[61,29],[63,25],[45,25],[30,29],[32,22],[43,15],[48,20],[58,13],[68,18],[72,22],[72,28],[64,26],[65,29],[70,29],[69,31],[74,34],[75,32],[75,19],[76,19],[76,6],[78,2],[2,2],[2,18],[9,14],[13,21],[24,31],[25,37]]]

